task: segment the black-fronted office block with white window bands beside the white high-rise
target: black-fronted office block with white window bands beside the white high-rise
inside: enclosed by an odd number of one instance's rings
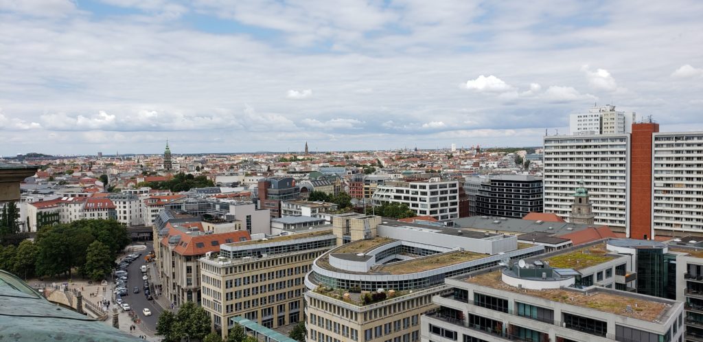
[[[542,212],[542,179],[530,175],[494,175],[476,196],[476,215],[522,218]]]

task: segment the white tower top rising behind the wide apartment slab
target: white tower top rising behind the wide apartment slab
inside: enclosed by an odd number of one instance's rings
[[[615,110],[613,105],[593,106],[588,113],[569,115],[569,134],[624,134],[632,132],[634,112]]]

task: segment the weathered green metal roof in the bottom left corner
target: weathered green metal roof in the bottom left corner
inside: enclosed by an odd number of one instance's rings
[[[143,341],[49,303],[12,274],[0,270],[0,341]]]

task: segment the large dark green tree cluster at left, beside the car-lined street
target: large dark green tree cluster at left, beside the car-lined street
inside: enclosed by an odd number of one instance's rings
[[[25,279],[70,276],[77,268],[83,277],[99,281],[115,266],[117,253],[129,245],[127,229],[115,220],[78,220],[42,228],[34,242],[5,246],[0,268]]]

